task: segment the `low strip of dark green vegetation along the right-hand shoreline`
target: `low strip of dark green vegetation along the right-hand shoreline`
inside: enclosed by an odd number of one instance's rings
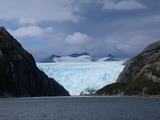
[[[123,93],[124,95],[159,95],[160,83],[153,82],[152,80],[141,80],[126,83],[113,83],[106,85],[102,89],[98,90],[96,95],[117,95]]]

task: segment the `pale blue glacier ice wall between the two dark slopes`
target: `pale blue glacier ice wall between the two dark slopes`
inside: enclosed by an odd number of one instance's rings
[[[98,90],[114,83],[124,68],[123,62],[37,63],[37,66],[71,95],[79,95],[88,88]]]

